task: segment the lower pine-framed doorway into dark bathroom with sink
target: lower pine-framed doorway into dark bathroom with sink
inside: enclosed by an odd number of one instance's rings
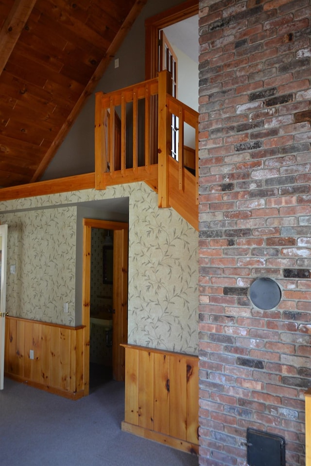
[[[92,383],[124,381],[128,223],[83,220],[84,394]]]

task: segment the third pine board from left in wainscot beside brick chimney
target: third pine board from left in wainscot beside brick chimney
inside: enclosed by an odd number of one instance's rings
[[[170,434],[170,356],[154,355],[154,429]]]

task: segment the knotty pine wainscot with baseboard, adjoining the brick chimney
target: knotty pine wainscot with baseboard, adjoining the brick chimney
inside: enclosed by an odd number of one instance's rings
[[[122,430],[198,453],[198,358],[125,347]]]

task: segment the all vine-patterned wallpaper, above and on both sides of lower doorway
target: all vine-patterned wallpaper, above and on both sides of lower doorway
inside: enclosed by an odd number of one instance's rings
[[[0,202],[9,231],[7,310],[75,325],[74,309],[82,307],[75,303],[76,204],[122,197],[129,198],[128,341],[196,354],[198,232],[173,209],[158,209],[145,183]]]

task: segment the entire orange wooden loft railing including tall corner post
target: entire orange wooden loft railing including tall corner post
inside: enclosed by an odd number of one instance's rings
[[[169,207],[172,115],[178,117],[178,191],[184,192],[184,125],[195,131],[194,205],[198,204],[198,113],[170,95],[171,78],[158,78],[124,89],[96,94],[95,187],[146,181],[158,192],[159,207]],[[186,149],[189,155],[189,148]],[[178,160],[178,162],[177,162]],[[187,172],[187,175],[186,175]],[[193,176],[193,175],[191,175]],[[188,188],[189,189],[189,188]]]

